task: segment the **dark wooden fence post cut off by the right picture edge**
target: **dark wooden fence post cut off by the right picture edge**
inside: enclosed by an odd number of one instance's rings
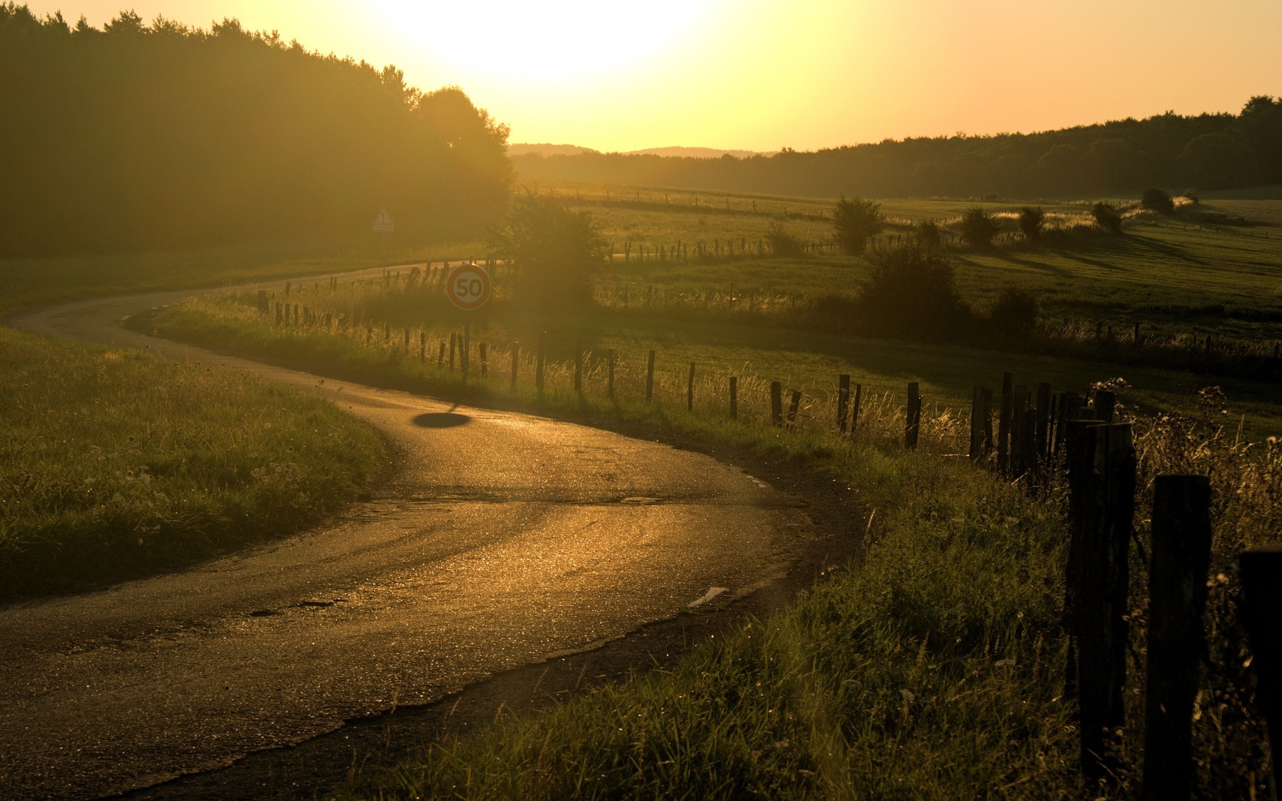
[[[1255,704],[1269,727],[1274,782],[1282,765],[1282,545],[1237,555],[1242,578],[1242,628],[1251,643]]]

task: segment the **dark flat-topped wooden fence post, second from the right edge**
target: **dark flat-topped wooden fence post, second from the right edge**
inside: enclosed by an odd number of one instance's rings
[[[1138,326],[1138,323],[1137,323]],[[1210,566],[1210,479],[1159,475],[1153,490],[1144,798],[1187,801],[1192,714]]]

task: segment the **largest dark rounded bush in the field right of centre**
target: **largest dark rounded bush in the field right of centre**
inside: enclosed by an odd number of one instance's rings
[[[872,333],[938,340],[960,333],[972,317],[956,288],[953,261],[915,245],[878,250],[858,308]]]

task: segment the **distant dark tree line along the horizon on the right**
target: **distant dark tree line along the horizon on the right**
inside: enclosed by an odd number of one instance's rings
[[[588,181],[833,197],[1070,197],[1147,187],[1282,183],[1282,100],[1240,114],[1173,111],[1040,133],[886,140],[772,156],[585,153],[513,161],[523,179]]]

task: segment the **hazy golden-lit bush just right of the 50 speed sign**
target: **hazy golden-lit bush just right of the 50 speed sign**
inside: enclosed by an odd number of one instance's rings
[[[520,296],[544,310],[586,305],[591,276],[605,258],[605,240],[591,214],[536,195],[513,200],[490,245],[515,263]]]

